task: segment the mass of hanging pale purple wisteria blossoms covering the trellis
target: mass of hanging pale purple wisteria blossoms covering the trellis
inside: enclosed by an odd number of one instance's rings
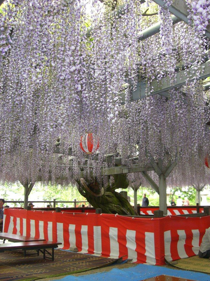
[[[160,33],[139,40],[154,18],[142,16],[137,0],[121,10],[95,0],[91,16],[80,0],[8,0],[0,22],[1,178],[70,181],[82,171],[100,179],[116,157],[124,166],[148,165],[149,151],[165,165],[179,160],[171,184],[189,183],[192,173],[202,180],[209,97],[198,77],[209,50],[209,2],[187,3],[192,26],[173,26],[167,1],[155,17]],[[155,95],[146,87],[132,101],[142,81],[161,85],[168,76],[173,85],[178,70],[185,86]],[[79,145],[87,132],[99,139],[89,157]]]

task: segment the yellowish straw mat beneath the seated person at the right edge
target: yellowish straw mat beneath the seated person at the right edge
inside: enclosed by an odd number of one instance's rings
[[[168,263],[181,269],[210,273],[210,260],[200,258],[199,256],[174,260]]]

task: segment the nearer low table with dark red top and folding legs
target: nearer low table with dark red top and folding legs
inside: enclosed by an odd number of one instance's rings
[[[58,245],[62,243],[52,242],[52,241],[31,241],[31,242],[18,242],[18,243],[5,243],[0,244],[0,253],[4,251],[10,250],[22,250],[24,251],[24,257],[26,256],[26,251],[28,250],[36,250],[37,255],[39,255],[39,251],[43,253],[43,258],[52,259],[54,261],[54,248],[58,248]],[[52,254],[48,251],[52,249]],[[46,256],[48,253],[49,256]]]

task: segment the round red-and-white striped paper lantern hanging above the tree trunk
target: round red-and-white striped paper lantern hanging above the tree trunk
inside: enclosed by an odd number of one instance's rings
[[[80,147],[87,154],[94,153],[99,148],[99,141],[92,133],[85,134],[80,138]]]

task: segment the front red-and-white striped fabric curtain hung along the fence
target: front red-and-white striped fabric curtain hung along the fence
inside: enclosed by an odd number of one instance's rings
[[[35,237],[39,238],[39,231],[43,231],[41,236],[44,235],[45,239],[48,237],[48,225],[52,225],[52,233],[50,232],[50,237],[53,241],[59,239],[63,240],[65,249],[68,249],[69,244],[69,225],[75,225],[75,232],[73,236],[76,238],[76,247],[79,251],[84,248],[82,243],[85,244],[85,248],[88,247],[88,253],[94,253],[94,245],[97,245],[100,251],[101,243],[101,254],[103,256],[109,257],[110,253],[113,252],[110,245],[114,243],[116,249],[119,249],[119,256],[125,255],[127,258],[129,255],[137,259],[137,263],[149,262],[154,255],[156,259],[156,264],[164,264],[164,232],[170,231],[171,234],[171,256],[172,259],[179,259],[178,254],[178,243],[179,245],[179,235],[186,235],[184,243],[184,251],[187,256],[194,255],[192,251],[192,230],[199,231],[199,243],[201,242],[202,236],[205,233],[206,228],[210,226],[210,216],[207,217],[178,217],[178,216],[166,216],[160,219],[150,219],[150,218],[132,218],[115,216],[111,214],[84,214],[84,213],[67,213],[61,212],[56,213],[55,211],[26,211],[18,209],[5,209],[6,219],[4,222],[4,231],[8,232],[8,228],[12,230],[13,233],[17,233],[17,217],[20,218],[20,233],[22,234],[25,230],[23,224],[23,218],[26,219],[26,235],[30,236],[31,231],[35,230]],[[13,216],[13,222],[10,225],[10,216]],[[35,222],[32,223],[31,220]],[[14,227],[13,227],[14,224]],[[81,235],[81,227],[87,226],[86,232],[83,234],[83,239]],[[98,233],[101,231],[101,237],[97,237],[94,241],[94,227]],[[110,228],[115,235],[117,234],[117,241],[113,238],[110,240],[109,233]],[[86,229],[83,227],[83,229]],[[58,233],[58,235],[57,235]],[[114,237],[115,237],[114,235]],[[129,236],[130,235],[130,236]],[[154,235],[154,236],[153,236]],[[154,243],[153,238],[154,237]],[[150,241],[150,238],[152,239]],[[183,239],[182,239],[183,240]],[[100,242],[101,241],[101,242]],[[95,243],[94,243],[95,242]],[[132,246],[129,246],[134,243]],[[179,246],[180,247],[180,246]],[[180,252],[180,251],[179,251]],[[148,254],[149,253],[149,254]]]

